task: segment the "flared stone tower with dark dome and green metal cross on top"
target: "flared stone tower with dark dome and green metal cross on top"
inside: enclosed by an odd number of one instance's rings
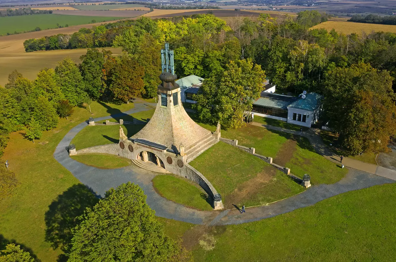
[[[161,50],[161,55],[162,83],[158,85],[158,103],[154,115],[130,140],[161,145],[166,151],[181,155],[184,161],[189,161],[216,142],[217,138],[195,123],[183,108],[180,87],[175,83],[177,75],[173,73],[173,50],[169,50],[168,44]]]

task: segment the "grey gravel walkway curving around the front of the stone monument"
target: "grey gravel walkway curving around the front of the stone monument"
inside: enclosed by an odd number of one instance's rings
[[[150,109],[153,104],[135,104],[135,108],[124,113],[95,118],[95,121],[120,117]],[[364,171],[350,169],[348,175],[335,184],[321,184],[311,186],[301,194],[277,201],[267,206],[251,207],[246,209],[246,213],[240,214],[236,209],[225,211],[198,211],[185,207],[181,204],[169,201],[158,195],[153,186],[152,178],[155,176],[133,166],[120,169],[98,169],[90,167],[69,157],[65,147],[68,146],[74,136],[87,126],[86,122],[73,127],[59,142],[54,158],[68,169],[80,182],[91,188],[99,196],[104,196],[111,187],[117,187],[128,181],[134,182],[143,188],[147,195],[147,203],[155,210],[157,216],[164,218],[189,222],[192,224],[226,225],[242,224],[269,218],[283,213],[291,212],[301,207],[314,205],[318,201],[345,193],[351,190],[368,188],[370,186],[392,183],[394,180],[379,177]]]

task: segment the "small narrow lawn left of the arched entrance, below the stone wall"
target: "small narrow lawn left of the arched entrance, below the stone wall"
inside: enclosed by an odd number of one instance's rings
[[[71,158],[86,165],[101,169],[114,169],[126,167],[131,164],[131,160],[127,158],[107,154],[77,155],[71,156]]]

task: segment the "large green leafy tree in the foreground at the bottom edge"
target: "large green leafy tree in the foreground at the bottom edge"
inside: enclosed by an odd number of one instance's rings
[[[166,262],[180,252],[146,204],[143,190],[128,182],[78,218],[68,248],[69,262]]]

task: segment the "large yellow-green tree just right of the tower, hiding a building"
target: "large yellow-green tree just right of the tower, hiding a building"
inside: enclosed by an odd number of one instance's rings
[[[264,80],[265,72],[250,59],[230,61],[224,72],[204,81],[195,95],[194,108],[203,121],[220,121],[227,128],[241,127],[253,100],[263,90]]]

